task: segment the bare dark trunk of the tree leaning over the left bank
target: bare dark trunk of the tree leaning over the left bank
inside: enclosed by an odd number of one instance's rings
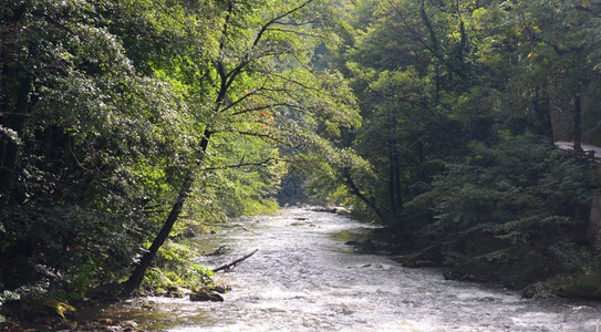
[[[205,135],[203,137],[203,141],[200,142],[200,151],[203,153],[207,151],[209,137],[210,132],[205,131]],[[172,210],[167,216],[167,219],[165,220],[165,224],[163,224],[160,231],[154,239],[151,248],[148,248],[148,251],[146,251],[146,253],[144,253],[144,256],[139,260],[139,263],[129,276],[129,279],[127,279],[127,281],[125,281],[125,283],[123,284],[123,289],[121,291],[122,295],[131,295],[132,292],[142,284],[142,280],[144,279],[146,270],[151,267],[154,258],[156,257],[156,253],[158,252],[158,249],[160,248],[160,246],[163,246],[163,243],[165,243],[165,241],[169,237],[169,234],[172,232],[175,221],[177,221],[177,218],[179,218],[182,209],[184,208],[184,204],[186,203],[186,199],[190,194],[193,184],[194,172],[193,169],[187,169],[184,176],[184,181],[182,183],[182,187],[179,188],[179,193],[177,194],[177,199],[175,200]]]

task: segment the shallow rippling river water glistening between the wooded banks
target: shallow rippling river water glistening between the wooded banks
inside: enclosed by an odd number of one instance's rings
[[[371,226],[301,208],[238,220],[239,227],[196,239],[224,256],[215,267],[259,249],[218,278],[224,302],[141,298],[96,311],[135,320],[146,331],[590,331],[601,303],[526,300],[500,287],[445,280],[437,269],[407,269],[391,257],[344,245]],[[597,330],[599,331],[599,330]]]

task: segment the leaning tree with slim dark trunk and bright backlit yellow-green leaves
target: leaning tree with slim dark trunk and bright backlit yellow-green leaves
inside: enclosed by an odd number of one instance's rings
[[[319,43],[333,37],[333,17],[327,2],[228,1],[224,6],[215,49],[209,52],[210,68],[203,77],[210,97],[200,104],[205,116],[200,155],[197,163],[184,169],[170,212],[125,283],[124,294],[139,286],[167,239],[198,167],[209,154],[209,143],[236,134],[294,145],[296,139],[307,139],[311,134],[297,127],[288,115],[291,112],[302,113],[305,123],[321,121],[333,131],[340,124],[356,123],[353,100],[339,84],[340,75],[311,69],[310,54]]]

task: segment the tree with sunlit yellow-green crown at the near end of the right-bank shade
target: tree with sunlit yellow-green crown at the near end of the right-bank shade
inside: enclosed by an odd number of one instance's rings
[[[373,186],[361,188],[346,176],[348,185],[384,224],[400,230],[410,231],[403,220],[405,203],[427,190],[442,169],[441,160],[465,148],[466,138],[488,133],[475,123],[477,116],[464,111],[467,116],[460,118],[462,113],[454,113],[463,111],[458,103],[465,106],[481,96],[474,89],[477,79],[470,61],[467,18],[473,7],[456,1],[356,7],[358,34],[350,40],[345,72],[352,77],[364,123],[348,146],[369,160],[374,179],[356,181]],[[367,19],[365,12],[372,17]],[[470,133],[472,127],[478,128]]]

